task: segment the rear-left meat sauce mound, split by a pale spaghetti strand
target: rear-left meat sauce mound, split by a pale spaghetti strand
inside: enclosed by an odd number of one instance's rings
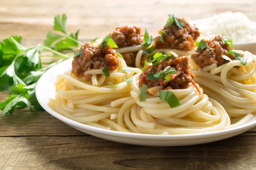
[[[119,48],[137,46],[143,42],[143,40],[141,40],[141,28],[139,26],[119,26],[110,33],[110,36]],[[126,52],[121,54],[128,66],[135,66],[137,52]]]

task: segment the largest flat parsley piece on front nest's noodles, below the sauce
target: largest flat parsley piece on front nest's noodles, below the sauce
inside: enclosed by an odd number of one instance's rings
[[[159,98],[166,100],[171,108],[175,108],[177,106],[181,106],[180,101],[177,99],[175,94],[171,91],[159,91]]]

